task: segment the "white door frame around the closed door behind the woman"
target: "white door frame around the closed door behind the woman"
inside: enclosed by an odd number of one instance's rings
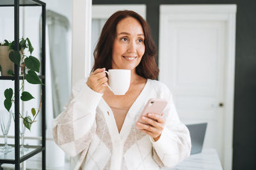
[[[202,8],[203,7],[203,8]],[[184,13],[188,13],[184,15]],[[168,20],[196,19],[218,20],[227,24],[227,55],[225,59],[225,85],[223,108],[223,169],[232,169],[233,155],[233,120],[234,120],[234,78],[236,51],[236,4],[161,4],[159,20],[159,69],[161,69],[161,53],[168,48],[164,43],[164,27]],[[203,13],[203,15],[202,15]],[[191,15],[193,14],[193,15]],[[194,15],[195,14],[195,15]],[[167,19],[168,18],[168,19]],[[168,73],[163,73],[168,76]]]

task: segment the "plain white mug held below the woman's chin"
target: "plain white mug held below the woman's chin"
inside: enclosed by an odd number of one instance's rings
[[[125,95],[130,87],[131,70],[129,69],[109,69],[108,74],[109,89],[115,95]]]

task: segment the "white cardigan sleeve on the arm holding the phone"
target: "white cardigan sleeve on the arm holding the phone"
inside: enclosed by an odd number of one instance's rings
[[[168,105],[163,113],[165,127],[157,141],[151,137],[150,141],[153,145],[153,159],[159,166],[170,168],[189,157],[191,139],[188,128],[179,120],[170,90],[166,91],[164,94],[168,96],[164,98],[168,99]]]

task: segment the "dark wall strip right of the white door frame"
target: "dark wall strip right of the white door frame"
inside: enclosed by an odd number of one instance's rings
[[[256,169],[256,1],[237,1],[234,169]]]

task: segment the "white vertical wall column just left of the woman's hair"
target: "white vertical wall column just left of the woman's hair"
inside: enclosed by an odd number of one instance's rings
[[[85,9],[85,10],[84,10]],[[92,0],[72,3],[71,86],[90,74]]]

